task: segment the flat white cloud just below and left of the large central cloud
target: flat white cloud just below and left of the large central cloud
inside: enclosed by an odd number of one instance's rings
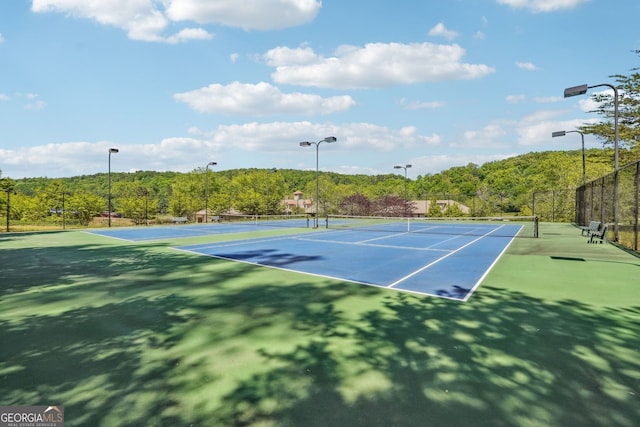
[[[228,85],[211,84],[190,92],[175,94],[174,99],[203,113],[246,114],[330,114],[355,105],[350,96],[323,98],[306,93],[282,93],[269,83]]]

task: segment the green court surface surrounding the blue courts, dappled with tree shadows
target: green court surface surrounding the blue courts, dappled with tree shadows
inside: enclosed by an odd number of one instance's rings
[[[640,258],[572,225],[515,239],[467,302],[171,248],[234,237],[0,234],[0,405],[64,405],[66,426],[640,425]]]

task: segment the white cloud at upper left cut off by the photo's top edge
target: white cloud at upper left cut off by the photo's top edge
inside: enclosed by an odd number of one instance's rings
[[[91,19],[126,31],[132,40],[176,44],[209,40],[213,35],[203,28],[165,34],[172,23],[193,21],[247,30],[280,29],[313,20],[321,6],[317,0],[262,0],[251,7],[226,0],[33,0],[31,11]]]

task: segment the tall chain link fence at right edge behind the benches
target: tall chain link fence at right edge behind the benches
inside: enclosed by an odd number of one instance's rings
[[[576,190],[576,223],[609,224],[607,238],[638,251],[640,161],[588,182]]]

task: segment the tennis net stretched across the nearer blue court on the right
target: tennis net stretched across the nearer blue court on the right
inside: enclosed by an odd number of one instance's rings
[[[377,217],[329,215],[330,229],[378,231],[387,233],[426,233],[494,237],[538,237],[535,216],[504,217]]]

